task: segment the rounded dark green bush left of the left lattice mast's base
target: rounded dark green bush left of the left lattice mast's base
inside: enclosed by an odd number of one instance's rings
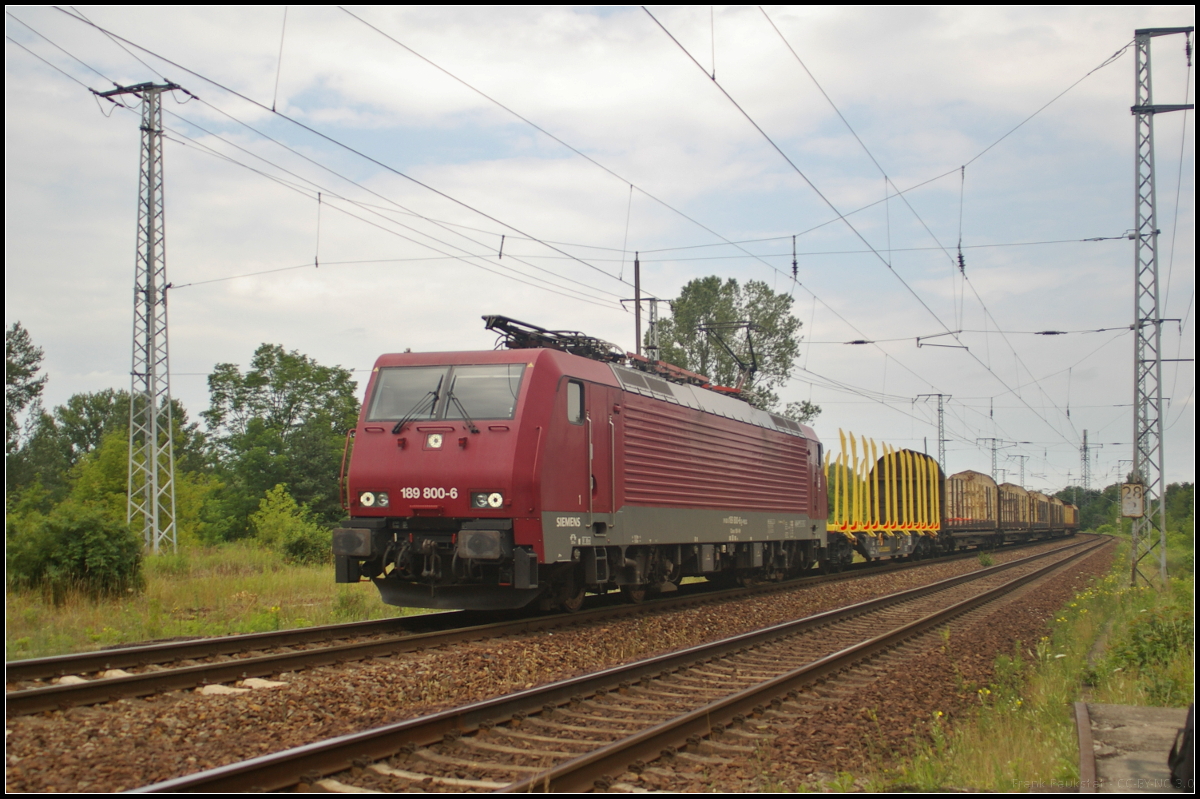
[[[77,589],[109,596],[144,587],[142,541],[103,509],[65,501],[8,539],[8,578],[55,600]]]

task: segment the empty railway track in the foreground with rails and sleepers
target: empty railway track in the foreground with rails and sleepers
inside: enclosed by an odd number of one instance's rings
[[[636,789],[622,775],[668,775],[679,764],[715,764],[752,752],[766,737],[756,720],[803,715],[814,684],[836,675],[832,685],[853,689],[870,679],[871,661],[889,657],[888,650],[1109,545],[1079,542],[142,791]]]

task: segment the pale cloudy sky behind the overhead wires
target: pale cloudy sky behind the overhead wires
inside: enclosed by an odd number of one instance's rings
[[[1128,469],[1120,461],[1132,450],[1132,334],[1019,331],[1132,322],[1133,242],[1079,241],[1133,227],[1132,48],[973,158],[1134,29],[1194,24],[1192,6],[770,8],[886,170],[887,190],[761,11],[650,10],[703,70],[715,62],[720,88],[839,211],[878,203],[848,216],[878,256],[641,8],[353,8],[619,178],[336,8],[289,7],[282,59],[281,7],[79,7],[179,66],[130,47],[144,66],[53,8],[10,7],[6,34],[97,90],[112,84],[71,56],[119,83],[166,77],[202,98],[163,106],[173,391],[193,417],[208,404],[212,366],[245,366],[263,342],[358,370],[360,389],[380,353],[491,348],[487,313],[632,349],[632,314],[617,300],[632,296],[640,251],[643,290],[660,298],[714,274],[794,296],[812,343],[781,395],[823,408],[816,427],[827,441],[842,427],[917,449],[928,438],[936,452],[936,405],[914,398],[943,392],[953,396],[950,471],[989,471],[990,451],[977,441],[1001,438],[1020,441],[1001,451],[1009,479],[1019,469],[1009,456],[1025,455],[1026,483],[1057,489],[1079,479],[1084,429],[1104,445],[1093,483]],[[1183,46],[1182,36],[1154,40],[1157,103],[1193,101]],[[272,115],[272,100],[374,162]],[[128,388],[139,118],[106,118],[108,103],[12,41],[5,104],[5,323],[20,320],[46,349],[48,405]],[[1164,352],[1190,359],[1193,114],[1160,115],[1156,145],[1163,316],[1186,318],[1182,336],[1178,324],[1163,326]],[[881,202],[946,173],[907,203]],[[966,288],[952,263],[960,233]],[[793,234],[803,234],[799,286]],[[775,240],[743,245],[758,259],[714,246],[721,236]],[[1067,244],[985,246],[1043,241]],[[677,250],[653,252],[668,247]],[[362,260],[377,263],[344,263]],[[970,350],[914,342],[985,328],[961,334]],[[900,341],[824,343],[859,338]],[[1194,364],[1165,365],[1163,380],[1166,476],[1190,481]]]

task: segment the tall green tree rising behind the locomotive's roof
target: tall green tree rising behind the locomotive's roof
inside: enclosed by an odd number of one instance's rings
[[[738,359],[720,344],[704,325],[750,323],[745,330],[720,331]],[[671,317],[659,323],[661,358],[668,364],[698,372],[719,385],[736,385],[740,367],[749,364],[754,349],[758,371],[743,386],[758,407],[779,404],[776,389],[784,385],[800,349],[800,320],[792,314],[792,298],[776,294],[762,281],[721,281],[713,275],[691,281],[671,304]],[[788,403],[785,413],[798,421],[811,421],[821,408],[809,402]]]

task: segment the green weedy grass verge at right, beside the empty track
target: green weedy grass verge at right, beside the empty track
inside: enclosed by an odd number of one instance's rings
[[[1190,558],[1188,558],[1190,561]],[[952,727],[941,713],[904,762],[880,763],[872,789],[1054,791],[1079,785],[1073,703],[1186,707],[1194,701],[1194,575],[1170,591],[1128,587],[1128,543],[1114,570],[1076,594],[1037,643],[995,661],[978,702]],[[964,686],[966,687],[966,686]]]

